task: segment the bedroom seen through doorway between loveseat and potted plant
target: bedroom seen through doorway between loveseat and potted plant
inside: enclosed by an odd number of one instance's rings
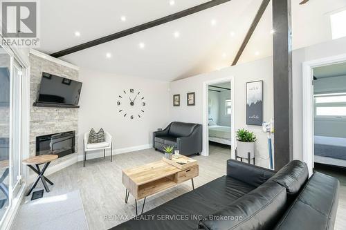
[[[210,148],[224,150],[231,148],[232,99],[230,90],[230,82],[208,84],[208,142]]]

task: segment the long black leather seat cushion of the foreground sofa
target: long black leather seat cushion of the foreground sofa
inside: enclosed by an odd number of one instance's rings
[[[201,218],[227,207],[253,189],[255,187],[249,184],[223,176],[139,215],[137,220],[129,220],[112,229],[197,229]],[[148,216],[152,219],[144,220]]]

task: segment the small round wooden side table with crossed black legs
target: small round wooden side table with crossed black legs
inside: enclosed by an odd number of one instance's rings
[[[53,182],[51,182],[50,180],[48,180],[48,178],[44,176],[44,172],[48,168],[49,164],[51,164],[53,160],[57,159],[57,157],[58,157],[57,155],[49,154],[49,155],[38,155],[36,157],[30,157],[29,159],[23,160],[23,164],[26,164],[30,169],[33,169],[33,171],[37,173],[38,175],[36,181],[33,183],[28,193],[26,193],[26,196],[30,195],[33,189],[35,189],[35,186],[37,185],[40,179],[42,180],[44,189],[46,189],[46,192],[49,193],[49,188],[46,182],[48,182],[51,185],[53,185]],[[36,169],[33,167],[34,164],[36,166]],[[42,170],[39,169],[40,164],[44,164]]]

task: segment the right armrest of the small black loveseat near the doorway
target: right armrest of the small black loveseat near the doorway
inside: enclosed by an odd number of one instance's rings
[[[201,153],[202,151],[202,126],[199,124],[188,136],[176,138],[176,145],[181,154]]]

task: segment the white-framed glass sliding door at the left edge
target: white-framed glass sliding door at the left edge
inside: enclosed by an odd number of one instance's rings
[[[12,50],[0,46],[0,220],[21,187],[22,71]]]

